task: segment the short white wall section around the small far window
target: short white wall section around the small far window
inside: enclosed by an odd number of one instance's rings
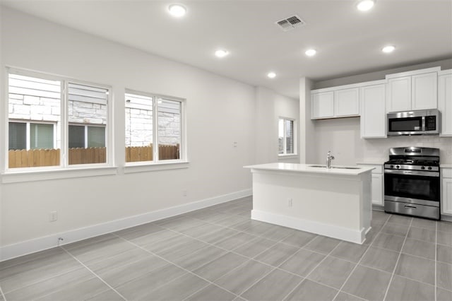
[[[297,155],[278,157],[278,118],[295,119],[299,123],[299,101],[256,88],[256,164],[271,162],[299,163],[299,134]],[[298,127],[298,126],[297,126]],[[298,132],[298,129],[297,129]]]

